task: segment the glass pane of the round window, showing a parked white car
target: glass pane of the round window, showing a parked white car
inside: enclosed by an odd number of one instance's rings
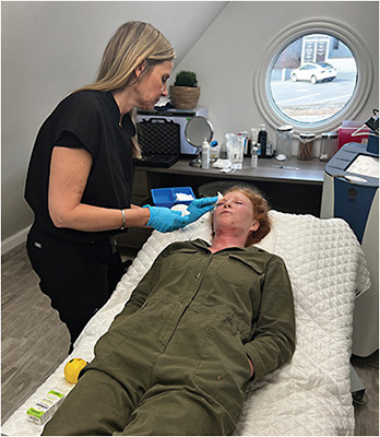
[[[356,61],[342,42],[335,49],[334,40],[326,34],[310,34],[280,52],[272,67],[270,90],[286,117],[306,123],[323,121],[352,98],[357,84]]]

